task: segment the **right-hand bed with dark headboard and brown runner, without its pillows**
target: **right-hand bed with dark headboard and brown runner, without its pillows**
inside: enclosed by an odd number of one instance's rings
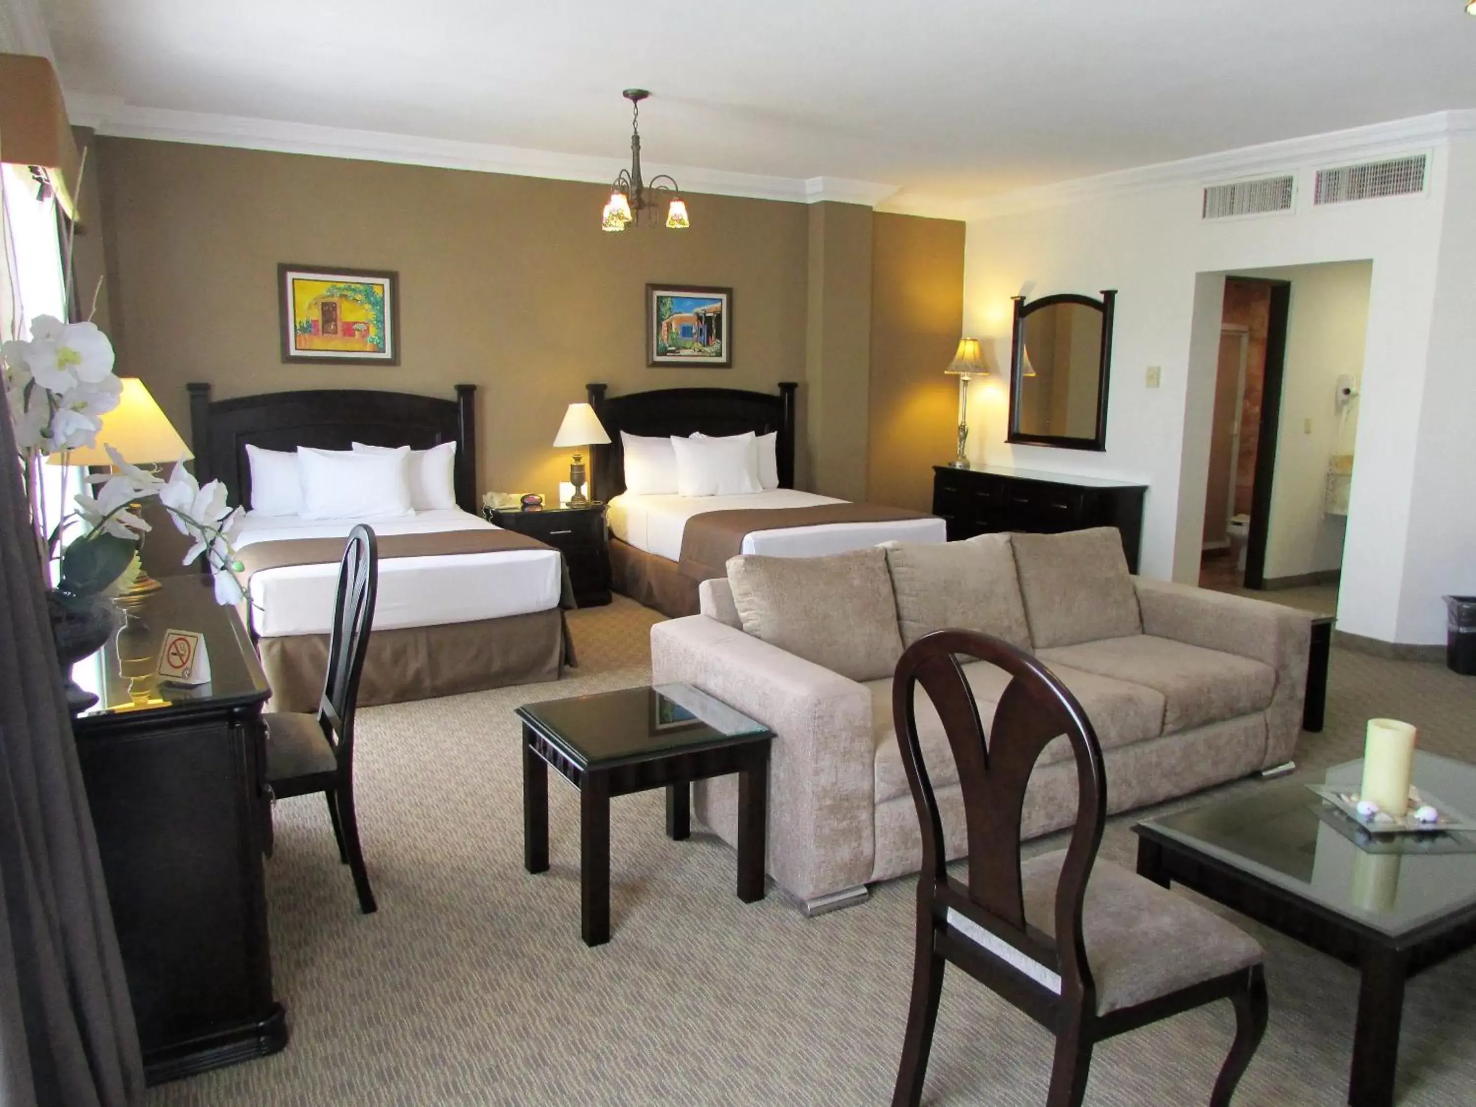
[[[592,494],[608,502],[611,579],[667,615],[697,611],[697,586],[722,576],[734,554],[822,556],[887,540],[945,542],[943,520],[900,508],[849,503],[794,489],[796,385],[778,393],[735,388],[663,388],[607,396],[590,384],[589,403],[610,434],[592,449]],[[775,435],[775,471],[763,492],[728,496],[635,494],[626,490],[621,432],[711,438],[753,431]],[[632,447],[635,449],[635,447]],[[694,524],[692,520],[697,520]]]

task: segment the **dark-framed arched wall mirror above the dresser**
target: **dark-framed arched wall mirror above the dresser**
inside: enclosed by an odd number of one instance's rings
[[[1015,297],[1007,441],[1107,449],[1107,366],[1117,292]]]

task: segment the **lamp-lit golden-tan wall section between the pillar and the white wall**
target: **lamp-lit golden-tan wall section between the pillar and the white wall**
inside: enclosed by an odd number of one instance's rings
[[[871,242],[868,499],[930,511],[933,466],[953,458],[958,428],[958,382],[943,370],[964,311],[964,224],[877,213]]]

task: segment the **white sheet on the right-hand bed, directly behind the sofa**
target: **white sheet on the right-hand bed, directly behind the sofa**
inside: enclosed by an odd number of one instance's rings
[[[770,489],[751,496],[630,496],[610,500],[607,518],[611,533],[646,554],[680,561],[682,531],[692,515],[704,511],[737,508],[809,508],[816,503],[844,503],[832,496],[816,496],[794,489]],[[881,542],[946,542],[948,527],[940,518],[892,520],[889,523],[822,523],[815,527],[776,527],[756,530],[742,540],[744,554],[773,558],[818,558],[865,549]]]

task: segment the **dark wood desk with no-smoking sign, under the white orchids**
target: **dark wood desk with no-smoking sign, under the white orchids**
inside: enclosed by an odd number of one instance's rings
[[[149,1083],[286,1045],[263,874],[270,689],[208,580],[161,584],[72,669],[102,697],[72,729]],[[210,683],[154,676],[170,629],[205,636]]]

